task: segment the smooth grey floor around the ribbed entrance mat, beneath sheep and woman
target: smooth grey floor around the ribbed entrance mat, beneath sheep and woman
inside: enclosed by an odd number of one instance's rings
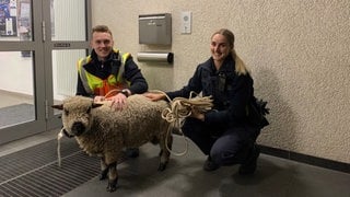
[[[0,147],[0,157],[56,137],[50,131]],[[184,138],[175,136],[174,150],[186,149]],[[350,174],[316,167],[290,160],[261,154],[255,175],[240,176],[238,166],[205,172],[206,157],[189,142],[185,155],[172,155],[164,172],[158,172],[159,148],[141,147],[140,157],[118,165],[119,181],[115,193],[107,193],[107,181],[94,177],[65,194],[65,197],[350,197]],[[88,155],[86,155],[88,157]]]

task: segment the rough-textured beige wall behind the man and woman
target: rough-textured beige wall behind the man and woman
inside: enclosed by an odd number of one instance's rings
[[[179,32],[192,12],[192,33]],[[172,13],[170,47],[138,44],[138,15]],[[252,68],[256,95],[269,101],[271,125],[258,142],[350,163],[350,1],[348,0],[98,0],[93,24],[112,27],[116,46],[175,54],[173,66],[139,62],[151,89],[177,90],[209,58],[211,34],[235,33]]]

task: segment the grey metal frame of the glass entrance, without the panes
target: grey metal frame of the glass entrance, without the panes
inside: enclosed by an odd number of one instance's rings
[[[50,107],[54,104],[51,51],[57,49],[86,49],[88,54],[92,10],[91,0],[84,0],[84,2],[85,40],[51,40],[50,1],[48,0],[32,0],[32,40],[0,40],[0,51],[33,51],[33,97],[36,117],[33,121],[0,129],[0,144],[61,127],[59,115],[54,115],[54,109]],[[60,43],[68,43],[69,45],[65,48],[58,47]]]

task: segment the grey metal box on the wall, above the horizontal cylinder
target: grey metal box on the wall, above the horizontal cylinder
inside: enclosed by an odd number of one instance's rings
[[[139,43],[172,44],[172,16],[170,13],[139,15]]]

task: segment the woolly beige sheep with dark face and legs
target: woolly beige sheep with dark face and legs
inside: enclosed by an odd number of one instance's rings
[[[162,118],[163,109],[168,107],[167,102],[152,102],[135,94],[127,99],[126,108],[115,111],[110,103],[98,104],[90,97],[72,96],[52,107],[62,111],[66,136],[74,137],[88,154],[101,157],[100,179],[108,175],[107,192],[117,188],[117,161],[122,157],[124,148],[159,143],[161,159],[158,171],[165,170],[173,143],[170,123]]]

